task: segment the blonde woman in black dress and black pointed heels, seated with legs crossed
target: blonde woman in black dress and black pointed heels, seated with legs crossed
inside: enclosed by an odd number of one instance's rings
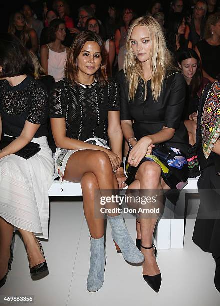
[[[187,183],[188,135],[181,120],[184,78],[173,68],[161,26],[151,16],[132,23],[126,47],[124,70],[117,76],[121,126],[130,146],[126,183],[128,192],[139,189],[141,195],[158,195],[154,205],[161,208],[163,189],[180,189]],[[161,285],[152,244],[157,219],[158,214],[138,215],[136,241],[145,256],[143,277],[156,292]]]

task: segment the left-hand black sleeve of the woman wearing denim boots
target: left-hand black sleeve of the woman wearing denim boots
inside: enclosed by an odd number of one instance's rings
[[[49,116],[50,118],[65,118],[67,94],[63,80],[57,82],[49,94]]]

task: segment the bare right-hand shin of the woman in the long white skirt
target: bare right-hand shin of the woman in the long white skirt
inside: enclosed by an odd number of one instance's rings
[[[19,232],[23,238],[23,242],[26,248],[29,266],[33,267],[37,264],[45,262],[45,258],[40,251],[39,242],[37,241],[34,234],[23,229],[19,229]]]

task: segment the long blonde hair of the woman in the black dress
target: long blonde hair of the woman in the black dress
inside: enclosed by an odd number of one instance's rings
[[[142,64],[138,61],[131,47],[130,37],[135,26],[145,26],[149,29],[151,39],[150,65],[152,71],[151,89],[153,99],[158,100],[162,83],[167,70],[177,70],[172,63],[172,55],[166,47],[166,41],[159,23],[151,16],[140,17],[131,24],[126,41],[126,56],[124,60],[124,73],[129,83],[129,100],[133,100],[140,79],[144,81]],[[144,81],[144,100],[146,100],[147,89]]]

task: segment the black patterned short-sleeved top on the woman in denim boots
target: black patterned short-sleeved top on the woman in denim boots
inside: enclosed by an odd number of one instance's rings
[[[65,118],[66,136],[85,141],[90,137],[108,140],[108,111],[120,110],[119,87],[111,79],[105,87],[95,80],[91,85],[73,85],[66,78],[50,92],[50,117]]]

